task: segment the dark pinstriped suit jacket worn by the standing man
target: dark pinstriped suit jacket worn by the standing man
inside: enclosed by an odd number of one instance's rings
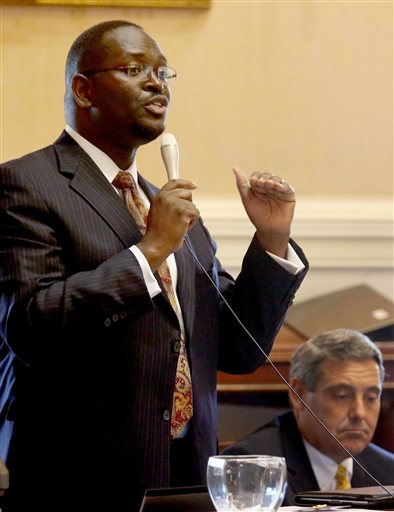
[[[40,487],[38,509],[46,510],[43,497],[51,490],[60,496],[67,483],[88,496],[81,510],[138,510],[145,488],[169,485],[176,315],[165,294],[149,297],[129,250],[140,240],[137,226],[66,133],[3,164],[0,179],[0,428],[14,494],[30,492],[34,503],[32,489]],[[148,196],[156,193],[140,183]],[[187,238],[269,352],[305,272],[290,275],[253,240],[234,281],[215,258],[202,222]],[[194,387],[198,483],[216,452],[216,370],[247,373],[264,358],[189,250],[175,257]],[[68,494],[62,496],[67,502]]]

